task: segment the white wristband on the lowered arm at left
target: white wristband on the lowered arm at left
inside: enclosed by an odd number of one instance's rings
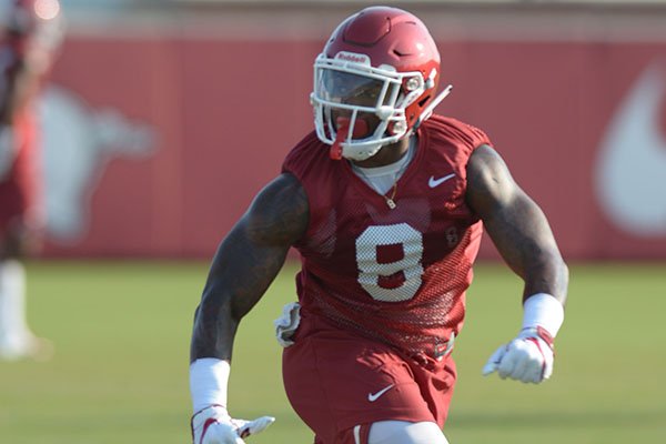
[[[194,412],[211,405],[226,408],[230,372],[229,362],[214,357],[199,359],[190,364],[190,393]]]

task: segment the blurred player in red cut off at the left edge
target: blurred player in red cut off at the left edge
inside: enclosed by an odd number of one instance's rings
[[[0,0],[0,359],[46,359],[26,319],[21,259],[43,228],[40,130],[33,102],[62,40],[58,0]]]

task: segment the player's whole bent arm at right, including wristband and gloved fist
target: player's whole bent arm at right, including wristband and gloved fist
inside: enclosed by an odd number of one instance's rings
[[[470,158],[466,200],[500,254],[524,281],[523,330],[491,357],[484,373],[497,370],[502,377],[541,382],[552,373],[553,337],[564,319],[568,269],[543,211],[491,147],[478,147]]]

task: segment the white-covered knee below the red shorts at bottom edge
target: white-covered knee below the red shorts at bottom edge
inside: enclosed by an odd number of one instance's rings
[[[431,422],[381,421],[370,426],[369,444],[448,444],[440,426]]]

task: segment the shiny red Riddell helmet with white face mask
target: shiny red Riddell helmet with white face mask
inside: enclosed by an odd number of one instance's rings
[[[435,97],[438,80],[425,24],[401,9],[366,8],[333,31],[314,62],[317,137],[333,159],[365,160],[430,117],[451,90]]]

